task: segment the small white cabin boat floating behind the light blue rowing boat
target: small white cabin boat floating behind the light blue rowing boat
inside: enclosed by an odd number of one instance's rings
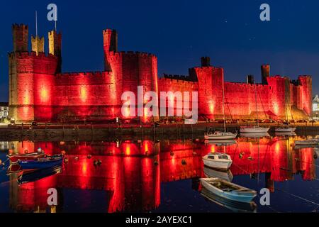
[[[207,167],[227,171],[233,163],[230,155],[225,153],[209,153],[203,156],[203,163]]]

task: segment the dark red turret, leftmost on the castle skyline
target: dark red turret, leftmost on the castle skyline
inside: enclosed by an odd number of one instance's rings
[[[24,24],[13,24],[13,52],[28,51],[28,26]]]

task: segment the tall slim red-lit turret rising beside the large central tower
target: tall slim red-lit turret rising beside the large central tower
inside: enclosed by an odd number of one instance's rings
[[[118,52],[118,33],[115,30],[103,30],[103,49],[105,57],[105,70],[112,71],[111,62],[108,59],[108,52]]]

